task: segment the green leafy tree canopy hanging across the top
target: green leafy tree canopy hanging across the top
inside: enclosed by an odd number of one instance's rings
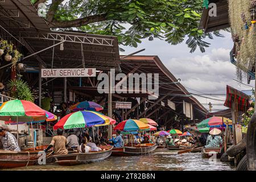
[[[142,39],[161,39],[176,45],[188,37],[191,52],[197,47],[205,52],[209,43],[204,39],[211,35],[197,28],[202,10],[202,0],[73,0],[59,5],[54,19],[68,22],[104,14],[105,20],[82,26],[77,23],[77,28],[117,36],[120,44],[133,47]]]

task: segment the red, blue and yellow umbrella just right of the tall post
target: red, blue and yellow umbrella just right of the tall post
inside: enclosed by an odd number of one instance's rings
[[[145,123],[137,120],[137,119],[127,119],[122,121],[117,126],[114,127],[114,130],[120,131],[139,131],[149,129],[150,127]]]

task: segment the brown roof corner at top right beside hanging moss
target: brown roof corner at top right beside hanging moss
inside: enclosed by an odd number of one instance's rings
[[[209,3],[216,3],[217,16],[209,16],[210,9],[204,8],[199,29],[212,32],[230,27],[228,0],[210,0]]]

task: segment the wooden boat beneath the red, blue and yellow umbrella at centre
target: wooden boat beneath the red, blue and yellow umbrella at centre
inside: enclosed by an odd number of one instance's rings
[[[143,143],[133,147],[114,147],[112,156],[143,155],[153,152],[158,146],[155,143]]]

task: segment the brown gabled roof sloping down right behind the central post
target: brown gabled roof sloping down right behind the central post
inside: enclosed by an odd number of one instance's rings
[[[121,56],[122,57],[122,56]],[[129,56],[121,58],[120,64],[123,73],[158,73],[159,74],[159,97],[152,102],[161,107],[161,101],[164,102],[169,113],[183,114],[183,101],[193,105],[194,117],[204,119],[208,110],[191,94],[187,89],[172,75],[172,73],[164,66],[158,56]],[[144,96],[145,97],[145,96]],[[175,103],[176,110],[172,110],[167,106],[170,100]],[[147,110],[147,113],[152,110]],[[142,117],[143,113],[139,115]]]

